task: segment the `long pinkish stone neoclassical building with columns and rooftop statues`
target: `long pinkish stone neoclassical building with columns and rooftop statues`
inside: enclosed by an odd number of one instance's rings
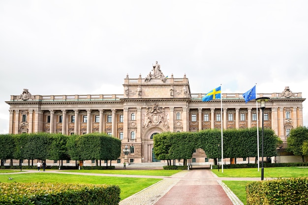
[[[150,69],[149,69],[150,70]],[[213,85],[215,88],[216,85]],[[245,88],[248,90],[251,85]],[[123,94],[117,95],[31,95],[24,89],[12,95],[9,109],[9,133],[51,132],[85,134],[106,132],[122,140],[130,150],[129,162],[153,162],[153,136],[171,131],[202,129],[252,128],[261,123],[255,101],[245,103],[240,93],[222,93],[220,100],[202,102],[205,93],[190,93],[188,78],[165,77],[160,65],[153,65],[145,78],[129,78],[123,83]],[[272,128],[283,140],[292,128],[303,126],[302,93],[258,94],[269,97],[264,110],[264,127]],[[124,155],[118,160],[123,161]],[[208,162],[203,150],[197,149],[192,162]]]

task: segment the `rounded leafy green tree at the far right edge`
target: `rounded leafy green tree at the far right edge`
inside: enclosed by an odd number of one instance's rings
[[[290,131],[290,136],[287,138],[287,151],[293,153],[294,155],[302,155],[302,160],[305,162],[304,155],[307,154],[303,148],[306,147],[306,142],[308,140],[308,128],[307,127],[297,127]]]

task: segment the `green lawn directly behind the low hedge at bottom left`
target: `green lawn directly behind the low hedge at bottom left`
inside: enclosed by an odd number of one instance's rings
[[[13,180],[9,180],[11,177]],[[0,175],[0,182],[51,182],[51,183],[90,183],[90,184],[116,184],[121,188],[121,200],[141,191],[142,189],[160,181],[149,178],[123,178],[83,176],[70,174],[54,174],[48,172]]]

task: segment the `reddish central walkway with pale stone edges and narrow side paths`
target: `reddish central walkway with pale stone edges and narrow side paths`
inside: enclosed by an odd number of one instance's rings
[[[37,172],[37,170],[23,171],[26,172],[3,174]],[[122,200],[120,205],[243,205],[222,180],[260,180],[260,178],[218,178],[208,169],[184,170],[171,177],[75,173],[59,172],[59,170],[48,170],[47,173],[163,179]]]

